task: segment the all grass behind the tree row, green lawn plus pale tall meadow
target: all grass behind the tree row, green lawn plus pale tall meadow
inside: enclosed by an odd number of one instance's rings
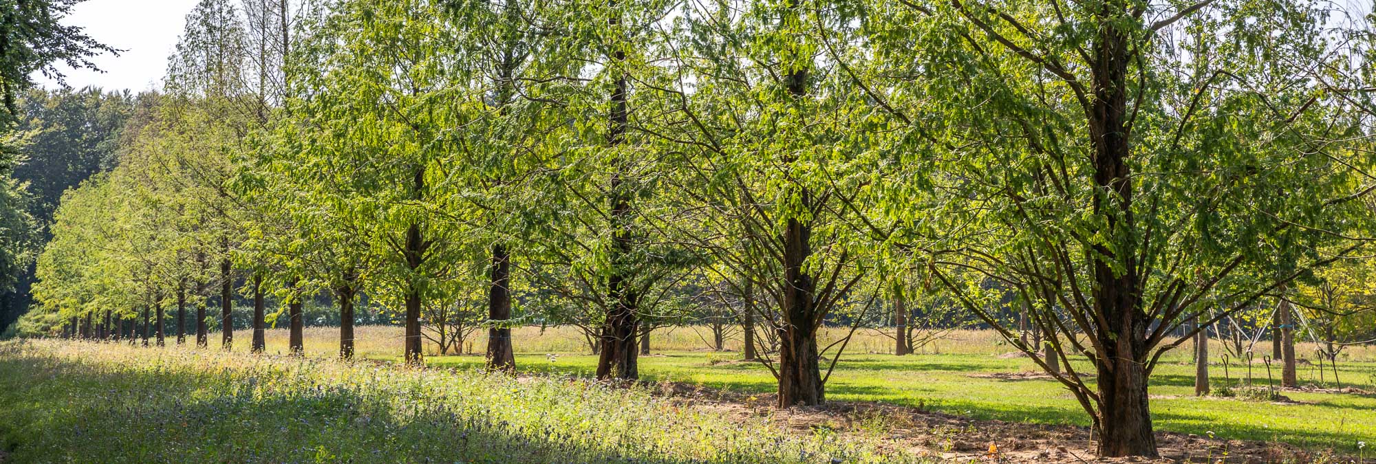
[[[843,328],[826,328],[823,345],[843,335]],[[246,338],[246,336],[245,336]],[[539,329],[522,327],[513,332],[517,368],[533,373],[592,376],[597,358],[588,354],[579,332],[568,327]],[[640,358],[640,373],[647,380],[670,380],[725,388],[742,393],[773,393],[775,379],[758,362],[739,362],[739,336],[728,338],[727,350],[709,350],[709,334],[702,327],[658,331],[652,336],[652,356]],[[235,342],[235,350],[239,343]],[[396,361],[400,354],[400,328],[365,327],[358,335],[359,356]],[[286,332],[268,331],[268,351],[282,353]],[[308,328],[305,350],[308,356],[333,357],[338,350],[338,331]],[[473,351],[482,353],[484,334],[475,334]],[[827,382],[827,398],[842,401],[879,401],[896,405],[921,406],[930,410],[976,419],[1000,419],[1049,424],[1088,426],[1090,420],[1079,402],[1060,383],[1039,380],[999,380],[971,375],[999,372],[1032,372],[1038,367],[1026,358],[1006,358],[1013,349],[999,342],[991,331],[956,331],[948,334],[922,354],[897,357],[892,353],[893,339],[878,331],[861,331],[849,343],[845,356]],[[1262,340],[1258,350],[1270,345]],[[1150,382],[1153,421],[1157,430],[1218,438],[1280,441],[1309,448],[1333,448],[1357,453],[1358,442],[1368,442],[1366,452],[1376,448],[1376,397],[1355,394],[1317,394],[1285,391],[1299,404],[1271,404],[1233,398],[1196,398],[1194,367],[1186,356],[1185,343],[1167,354]],[[1234,358],[1227,369],[1230,380],[1219,365],[1223,347],[1211,343],[1214,365],[1211,378],[1215,387],[1225,382],[1237,386],[1247,376],[1245,365]],[[1313,358],[1311,343],[1296,345],[1302,358]],[[427,364],[435,367],[477,368],[482,356],[433,356]],[[550,362],[549,354],[557,358]],[[716,360],[717,362],[711,362]],[[830,360],[830,356],[828,356]],[[727,361],[727,362],[721,362]],[[1088,365],[1076,362],[1076,369],[1087,372]],[[1324,375],[1332,387],[1331,367]],[[1314,365],[1300,365],[1300,384],[1320,383]],[[1273,365],[1273,376],[1280,383],[1280,367]],[[1339,358],[1339,378],[1344,386],[1376,391],[1376,347],[1354,346]],[[1252,382],[1267,384],[1262,360],[1252,364]],[[1086,438],[1088,439],[1088,438]]]

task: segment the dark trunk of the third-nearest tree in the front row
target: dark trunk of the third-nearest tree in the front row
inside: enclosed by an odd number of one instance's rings
[[[608,19],[608,23],[615,27],[621,23],[621,18],[615,14]],[[621,69],[622,63],[626,60],[626,52],[619,47],[614,47],[611,56],[611,66],[614,73],[616,73],[616,80],[611,92],[611,113],[608,114],[608,128],[607,128],[607,146],[610,148],[616,148],[622,144],[625,139],[626,125],[630,121],[626,110],[626,71]],[[634,290],[630,288],[630,196],[625,184],[625,159],[622,155],[616,155],[615,172],[611,176],[611,229],[612,229],[612,248],[611,248],[611,275],[607,277],[607,297],[611,305],[607,308],[607,321],[603,327],[601,334],[601,353],[597,356],[597,379],[638,379],[640,369],[637,364],[637,343],[636,335],[638,331],[638,320],[636,316],[636,302],[637,295]]]

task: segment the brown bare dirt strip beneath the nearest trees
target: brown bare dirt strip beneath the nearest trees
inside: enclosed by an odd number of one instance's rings
[[[1099,459],[1088,427],[976,420],[911,406],[828,401],[823,406],[775,408],[773,394],[744,395],[682,383],[659,383],[656,391],[682,405],[744,417],[772,416],[775,423],[808,432],[828,427],[842,437],[879,423],[889,446],[952,463],[1355,463],[1354,457],[1315,453],[1287,443],[1223,441],[1156,432],[1159,460]],[[863,426],[867,424],[867,426]],[[1226,454],[1225,454],[1226,453]],[[1225,457],[1226,456],[1226,457]],[[1376,461],[1372,461],[1376,463]]]

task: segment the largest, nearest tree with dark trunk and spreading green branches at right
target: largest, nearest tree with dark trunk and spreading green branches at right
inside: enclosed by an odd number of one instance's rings
[[[1148,379],[1198,331],[1167,339],[1181,324],[1212,325],[1358,251],[1344,232],[1372,180],[1350,166],[1369,159],[1350,141],[1362,136],[1350,95],[1309,76],[1346,69],[1350,56],[1328,41],[1322,10],[1245,0],[875,8],[877,65],[854,81],[910,122],[893,156],[930,181],[886,187],[937,194],[932,207],[892,213],[915,225],[915,261],[1035,354],[976,283],[1022,288],[1051,351],[1093,367],[1091,383],[1073,364],[1057,372],[1033,358],[1090,413],[1101,456],[1157,454]],[[1179,40],[1186,33],[1203,40]],[[1211,59],[1193,71],[1205,49]],[[940,227],[921,229],[933,217]],[[1214,302],[1229,306],[1210,312]]]

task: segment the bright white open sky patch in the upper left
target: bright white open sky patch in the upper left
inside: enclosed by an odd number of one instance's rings
[[[162,86],[168,56],[176,48],[186,14],[197,0],[89,0],[72,8],[62,22],[85,27],[102,44],[124,49],[120,56],[100,55],[91,62],[105,73],[72,70],[59,66],[67,85],[95,85],[105,89],[133,92]],[[58,82],[34,77],[39,85],[58,88]]]

